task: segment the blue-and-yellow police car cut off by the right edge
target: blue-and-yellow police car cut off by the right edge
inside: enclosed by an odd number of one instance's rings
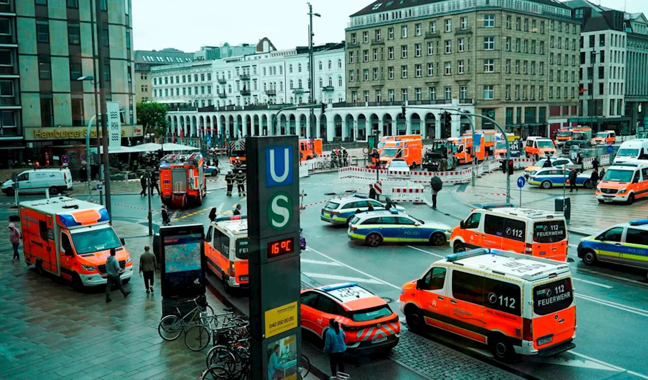
[[[588,265],[605,261],[648,269],[648,219],[616,224],[598,235],[585,237],[577,252]]]

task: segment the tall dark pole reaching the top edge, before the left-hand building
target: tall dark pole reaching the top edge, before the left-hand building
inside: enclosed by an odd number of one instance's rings
[[[101,134],[102,147],[104,148],[104,154],[102,154],[102,163],[104,167],[104,188],[106,189],[106,211],[108,211],[108,217],[112,219],[111,207],[110,207],[110,154],[108,154],[108,112],[106,111],[106,78],[104,78],[104,58],[106,56],[104,52],[104,30],[102,26],[101,19],[101,0],[95,0],[95,8],[97,10],[97,50],[99,55],[99,101],[101,105]]]

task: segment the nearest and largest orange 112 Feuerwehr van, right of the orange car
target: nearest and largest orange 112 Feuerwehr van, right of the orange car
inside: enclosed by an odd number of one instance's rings
[[[540,257],[486,248],[448,255],[403,285],[400,309],[410,329],[476,340],[500,361],[575,348],[569,265]]]

